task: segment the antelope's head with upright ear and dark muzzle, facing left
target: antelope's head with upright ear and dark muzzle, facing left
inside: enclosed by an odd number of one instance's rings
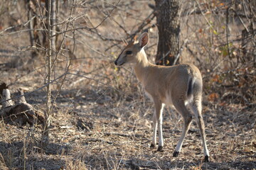
[[[129,43],[124,50],[122,50],[121,54],[114,62],[117,66],[121,66],[123,64],[128,63],[137,63],[140,59],[141,52],[144,52],[144,46],[149,42],[149,34],[142,33],[140,35],[139,40],[134,40]]]

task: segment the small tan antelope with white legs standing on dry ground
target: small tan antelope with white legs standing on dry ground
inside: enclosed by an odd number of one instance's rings
[[[142,83],[146,94],[154,101],[153,125],[154,133],[151,147],[156,146],[156,128],[159,131],[159,147],[164,147],[162,134],[162,112],[165,105],[174,106],[183,117],[183,130],[178,140],[173,156],[178,157],[183,140],[191,125],[192,113],[198,124],[202,143],[204,161],[208,162],[209,152],[206,146],[202,111],[203,81],[199,69],[193,64],[179,64],[176,66],[159,66],[151,64],[144,51],[149,41],[149,34],[142,33],[139,40],[129,43],[114,62],[117,66],[132,64],[137,79]]]

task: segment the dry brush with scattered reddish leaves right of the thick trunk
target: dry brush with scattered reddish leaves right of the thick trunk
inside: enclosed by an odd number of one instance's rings
[[[210,101],[251,105],[256,99],[254,2],[209,3],[198,7],[194,1],[194,10],[201,9],[199,14],[181,18],[183,62],[195,62],[201,69]],[[251,17],[241,18],[245,8]]]

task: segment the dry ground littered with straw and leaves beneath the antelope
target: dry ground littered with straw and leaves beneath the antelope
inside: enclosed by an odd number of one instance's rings
[[[11,73],[16,74],[15,70]],[[2,72],[11,76],[10,70]],[[14,96],[16,89],[26,86],[30,79],[36,87],[40,79],[36,81],[35,77],[40,74],[26,74],[26,79],[11,85]],[[80,78],[73,81],[77,79]],[[176,158],[172,153],[181,135],[181,116],[165,108],[164,152],[149,148],[154,108],[133,75],[131,79],[134,84],[129,86],[129,92],[85,78],[72,88],[65,85],[53,108],[50,145],[44,151],[40,147],[42,125],[18,127],[1,120],[1,169],[256,168],[255,106],[203,100],[210,162],[202,162],[201,138],[195,121]],[[46,91],[35,91],[26,99],[36,109],[45,111]]]

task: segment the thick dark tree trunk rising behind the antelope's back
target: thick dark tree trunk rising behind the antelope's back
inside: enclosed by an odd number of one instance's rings
[[[156,64],[178,64],[179,52],[179,0],[155,0],[156,23],[159,30],[159,42]]]

